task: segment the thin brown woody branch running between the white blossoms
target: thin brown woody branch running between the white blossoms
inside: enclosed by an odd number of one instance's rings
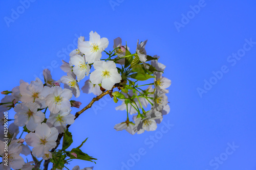
[[[115,88],[115,86],[114,86],[113,88]],[[112,89],[113,89],[113,88],[112,88]],[[76,114],[75,114],[75,119],[76,119],[80,114],[82,114],[82,112],[84,112],[84,111],[86,111],[87,109],[91,108],[92,105],[94,104],[94,102],[96,102],[96,101],[100,100],[101,98],[103,98],[104,95],[110,94],[111,91],[112,91],[112,90],[107,90],[107,91],[105,91],[105,92],[102,92],[102,93],[101,93],[100,95],[98,95],[97,97],[93,98],[93,100],[92,100],[86,107],[84,107],[81,111],[76,112]],[[70,127],[70,125],[67,126],[67,129],[68,129],[69,127]],[[56,140],[56,147],[53,148],[53,149],[51,150],[51,152],[54,152],[54,151],[58,148],[58,145],[60,144],[60,140],[61,140],[62,136],[63,136],[63,133],[61,133],[61,134],[58,135],[58,138],[57,138],[57,140]],[[50,162],[50,159],[48,159],[48,160],[45,161],[45,163],[44,163],[44,166],[45,166],[44,170],[47,170],[47,169],[48,169],[48,164],[49,164],[49,162]]]

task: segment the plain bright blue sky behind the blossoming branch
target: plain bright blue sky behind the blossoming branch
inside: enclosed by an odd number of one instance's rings
[[[106,98],[95,103],[98,110],[83,113],[70,128],[75,141],[71,148],[89,137],[81,149],[97,158],[97,164],[74,160],[67,167],[128,169],[122,168],[122,162],[126,164],[132,159],[130,154],[144,148],[146,154],[129,169],[210,170],[217,165],[209,162],[226,152],[228,142],[234,142],[239,148],[218,169],[256,169],[256,45],[236,65],[227,62],[228,56],[243,48],[245,39],[256,41],[255,1],[206,0],[206,6],[179,32],[174,22],[181,23],[181,14],[191,11],[189,6],[198,5],[198,0],[119,2],[112,8],[109,1],[38,0],[8,27],[4,17],[11,18],[11,9],[17,11],[22,4],[0,1],[1,91],[19,85],[20,79],[34,80],[51,63],[55,63],[53,78],[60,79],[65,75],[59,68],[61,59],[68,61],[62,50],[74,49],[76,35],[89,40],[89,32],[97,31],[109,39],[108,51],[116,37],[127,41],[132,52],[137,39],[148,39],[147,54],[160,56],[159,62],[167,65],[164,76],[172,80],[167,94],[171,110],[164,121],[174,127],[150,149],[145,139],[163,124],[141,135],[116,132],[113,127],[125,120],[125,111],[116,111],[120,103]],[[223,65],[229,71],[200,98],[197,88],[203,88],[204,79],[209,81],[212,71]],[[93,96],[82,93],[78,98],[82,107]]]

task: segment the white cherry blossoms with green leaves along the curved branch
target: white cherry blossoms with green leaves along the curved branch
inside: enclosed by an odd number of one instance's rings
[[[72,107],[79,108],[81,105],[71,98],[73,95],[75,98],[79,97],[79,83],[86,77],[89,78],[81,87],[82,92],[97,95],[90,106],[108,94],[115,103],[118,100],[122,102],[116,110],[125,110],[126,120],[115,125],[114,129],[125,129],[131,134],[156,130],[163,115],[170,111],[166,96],[169,90],[166,88],[171,82],[162,76],[166,66],[158,62],[159,56],[147,55],[146,42],[147,40],[139,43],[138,40],[135,53],[132,54],[130,48],[122,45],[122,39],[118,37],[114,39],[113,50],[106,52],[109,40],[100,38],[98,33],[91,31],[89,41],[79,37],[77,49],[70,53],[70,60],[62,60],[60,68],[67,75],[55,81],[50,70],[45,69],[44,83],[38,78],[30,83],[20,80],[19,86],[11,91],[3,91],[2,94],[6,96],[0,103],[0,155],[4,162],[3,141],[8,138],[9,165],[5,167],[2,163],[0,166],[5,169],[29,170],[39,168],[41,160],[45,160],[44,165],[48,167],[51,160],[53,169],[62,169],[70,159],[95,160],[80,150],[87,139],[79,147],[68,150],[73,142],[72,134],[68,131],[69,126],[81,112],[90,108],[85,107],[75,115],[71,113]],[[105,59],[102,59],[103,52],[108,56]],[[152,83],[139,84],[153,79]],[[147,85],[148,87],[143,89]],[[4,133],[4,112],[11,108],[16,112],[14,122],[10,124],[8,133]],[[23,127],[19,137],[18,127]],[[58,149],[62,136],[62,149]],[[20,154],[31,154],[33,161],[25,162]],[[80,168],[75,166],[73,169]]]

